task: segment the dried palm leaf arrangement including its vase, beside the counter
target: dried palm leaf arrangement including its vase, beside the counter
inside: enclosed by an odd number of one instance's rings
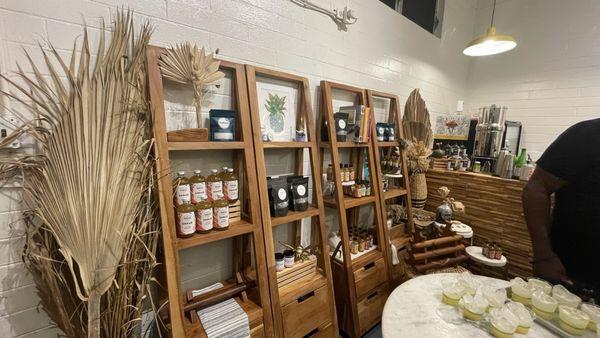
[[[427,182],[425,172],[429,167],[429,155],[433,146],[433,132],[429,120],[429,111],[419,89],[413,90],[404,106],[402,117],[404,136],[408,139],[408,167],[410,170],[410,189],[412,206],[422,209],[427,200]]]

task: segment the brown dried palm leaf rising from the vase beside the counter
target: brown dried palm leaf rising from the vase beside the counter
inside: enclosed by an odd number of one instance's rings
[[[433,132],[429,120],[429,111],[421,98],[419,89],[413,90],[404,106],[402,116],[404,136],[409,140],[422,141],[429,149],[433,147]]]

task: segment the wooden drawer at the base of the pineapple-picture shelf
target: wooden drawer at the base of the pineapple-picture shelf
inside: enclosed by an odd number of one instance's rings
[[[327,285],[311,291],[283,307],[283,330],[286,337],[303,337],[331,321]]]

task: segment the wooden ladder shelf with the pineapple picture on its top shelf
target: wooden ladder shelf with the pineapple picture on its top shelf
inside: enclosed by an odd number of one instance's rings
[[[252,130],[258,174],[258,193],[260,194],[260,210],[262,214],[264,246],[268,271],[271,304],[274,318],[275,337],[334,337],[338,332],[338,323],[333,297],[332,271],[327,255],[327,228],[325,224],[323,196],[321,194],[321,173],[318,168],[318,147],[308,79],[296,75],[269,69],[246,66]],[[263,142],[261,135],[260,103],[257,94],[257,79],[266,78],[296,85],[298,88],[298,116],[296,124],[306,122],[308,142]],[[270,149],[288,149],[294,153],[295,174],[303,174],[304,150],[310,158],[312,174],[313,204],[306,211],[289,211],[283,217],[271,217],[267,187],[267,168],[265,152]],[[257,209],[258,210],[258,209]],[[273,231],[275,227],[292,223],[296,230],[301,221],[311,219],[311,244],[313,254],[317,256],[314,274],[299,278],[285,286],[277,283],[275,270],[275,243]],[[298,232],[297,232],[298,234]],[[299,236],[296,236],[299,237]],[[296,238],[295,245],[299,239]],[[285,270],[284,270],[285,271]]]

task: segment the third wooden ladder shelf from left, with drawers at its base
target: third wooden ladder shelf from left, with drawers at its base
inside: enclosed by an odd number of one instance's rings
[[[331,156],[331,165],[335,180],[333,198],[325,201],[327,207],[337,213],[339,229],[342,240],[342,259],[332,256],[332,269],[334,277],[334,290],[337,304],[340,328],[351,337],[360,337],[381,319],[383,305],[389,292],[389,269],[385,239],[385,223],[382,219],[381,200],[379,198],[380,185],[378,183],[375,164],[375,148],[373,142],[356,144],[352,141],[338,142],[334,121],[333,91],[340,90],[355,95],[355,105],[368,105],[367,93],[364,89],[321,81],[321,108],[317,124],[317,135],[328,128],[328,141],[319,140],[321,148],[321,171],[324,170],[325,152]],[[374,135],[374,125],[371,126],[371,135]],[[340,165],[340,150],[350,151],[351,161],[358,165],[357,177],[362,176],[362,163],[364,156],[368,156],[368,167],[371,173],[371,196],[353,198],[345,196],[342,191]],[[358,225],[359,212],[363,206],[372,206],[374,219],[374,235],[377,247],[361,256],[352,259],[350,252],[349,223]]]

